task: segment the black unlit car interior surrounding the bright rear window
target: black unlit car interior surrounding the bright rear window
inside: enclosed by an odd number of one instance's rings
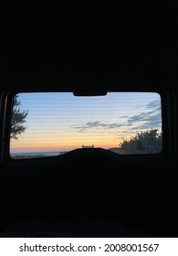
[[[0,237],[177,237],[177,40],[172,1],[73,1],[1,9]],[[162,153],[77,148],[9,156],[19,92],[151,91],[162,98]]]

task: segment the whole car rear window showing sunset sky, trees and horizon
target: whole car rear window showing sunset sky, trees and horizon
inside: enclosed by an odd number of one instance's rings
[[[10,127],[13,159],[103,148],[120,155],[162,153],[162,104],[156,92],[74,96],[72,92],[21,92]]]

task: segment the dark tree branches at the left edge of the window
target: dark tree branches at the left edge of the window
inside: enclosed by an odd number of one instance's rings
[[[20,101],[18,101],[18,95],[14,98],[14,105],[12,111],[12,120],[11,120],[11,131],[10,138],[17,139],[18,135],[26,131],[26,116],[28,112],[20,110]]]

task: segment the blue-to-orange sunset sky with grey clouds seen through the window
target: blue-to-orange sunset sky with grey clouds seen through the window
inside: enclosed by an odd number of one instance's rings
[[[154,92],[108,92],[76,97],[72,92],[19,93],[28,111],[26,131],[11,139],[10,153],[69,151],[82,145],[118,147],[136,132],[162,127],[161,98]]]

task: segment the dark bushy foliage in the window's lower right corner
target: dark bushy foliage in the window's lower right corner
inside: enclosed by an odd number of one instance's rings
[[[120,154],[159,154],[162,152],[162,133],[158,129],[136,133],[129,141],[123,139],[120,143]]]

